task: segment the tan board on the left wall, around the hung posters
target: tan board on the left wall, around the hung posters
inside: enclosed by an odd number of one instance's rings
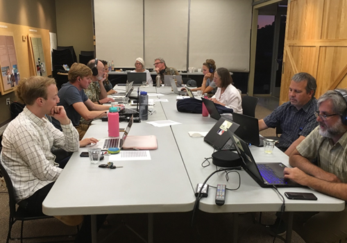
[[[3,45],[1,44],[1,36],[5,36],[8,40],[12,38],[13,49],[10,49],[11,59],[10,63],[8,62],[1,64],[1,75],[0,75],[0,92],[1,95],[8,94],[10,92],[15,91],[17,87],[17,83],[20,82],[23,78],[28,78],[29,76],[37,75],[37,67],[33,55],[33,49],[31,45],[30,37],[40,37],[42,42],[42,55],[44,56],[44,68],[46,72],[46,76],[50,76],[52,74],[51,69],[51,42],[49,37],[49,30],[43,28],[33,28],[30,26],[21,26],[18,24],[8,24],[5,22],[0,22],[0,58],[2,58],[2,53],[4,52]],[[2,48],[2,49],[1,49]],[[12,47],[11,47],[12,48]],[[15,60],[17,61],[17,65],[13,67],[15,64],[12,64],[12,60],[14,59],[13,52],[15,52]],[[5,55],[5,54],[4,54]],[[40,58],[41,59],[41,58]],[[8,71],[8,67],[10,71]],[[15,72],[17,72],[17,83],[16,79],[8,80],[8,72],[13,74],[13,78],[15,78]],[[5,78],[3,76],[5,74]],[[6,76],[7,75],[7,76]],[[8,81],[10,82],[8,84]],[[11,87],[11,82],[12,86]],[[8,86],[9,85],[9,86]]]

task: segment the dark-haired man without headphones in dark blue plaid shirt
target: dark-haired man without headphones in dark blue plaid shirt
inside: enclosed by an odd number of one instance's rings
[[[316,79],[301,72],[291,78],[289,101],[258,121],[259,131],[266,128],[282,128],[280,141],[276,146],[290,155],[304,138],[318,125],[314,112],[317,110]]]

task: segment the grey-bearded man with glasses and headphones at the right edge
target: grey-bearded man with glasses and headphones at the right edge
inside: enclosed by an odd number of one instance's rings
[[[347,201],[347,90],[328,90],[318,106],[319,126],[291,153],[294,168],[285,168],[285,178]],[[347,207],[341,212],[294,213],[293,229],[305,242],[345,240]]]

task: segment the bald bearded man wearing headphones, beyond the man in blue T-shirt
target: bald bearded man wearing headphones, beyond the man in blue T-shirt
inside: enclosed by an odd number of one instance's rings
[[[97,58],[90,60],[87,66],[92,69],[92,83],[85,89],[87,97],[96,104],[103,104],[115,101],[108,97],[108,93],[103,86],[103,81],[106,78],[105,66],[103,62]]]

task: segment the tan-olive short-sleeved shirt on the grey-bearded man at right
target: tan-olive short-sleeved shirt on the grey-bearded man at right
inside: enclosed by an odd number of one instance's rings
[[[347,133],[333,144],[328,137],[319,135],[317,126],[296,149],[308,160],[317,159],[321,169],[335,174],[343,183],[347,183]]]

